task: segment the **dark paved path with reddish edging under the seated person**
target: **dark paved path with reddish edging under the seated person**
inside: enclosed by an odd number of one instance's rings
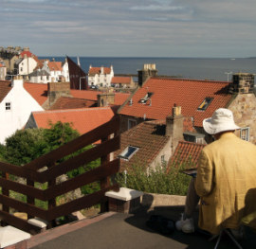
[[[134,214],[105,213],[93,219],[66,224],[63,227],[34,236],[28,242],[28,248],[33,249],[128,249],[128,248],[172,248],[172,249],[211,249],[215,242],[209,242],[208,237],[195,233],[183,234],[175,230],[168,236],[162,236],[148,228],[145,222],[152,214],[161,214],[177,221],[182,208],[155,207],[154,210],[139,209]],[[196,219],[196,218],[195,218]],[[256,235],[249,229],[247,240],[242,240],[244,249],[256,248]],[[235,249],[229,238],[221,240],[218,249]]]

